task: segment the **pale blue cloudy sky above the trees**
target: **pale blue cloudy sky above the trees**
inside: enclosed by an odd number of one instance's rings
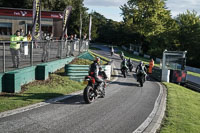
[[[84,0],[85,7],[89,8],[89,12],[96,11],[104,15],[108,19],[121,21],[120,5],[123,5],[128,0]],[[171,10],[173,17],[179,13],[188,10],[195,10],[200,14],[200,0],[167,0],[166,6]]]

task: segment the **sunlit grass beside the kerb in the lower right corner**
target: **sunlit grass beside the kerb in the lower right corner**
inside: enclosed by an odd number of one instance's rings
[[[168,88],[167,110],[160,133],[200,132],[200,93],[164,83]]]

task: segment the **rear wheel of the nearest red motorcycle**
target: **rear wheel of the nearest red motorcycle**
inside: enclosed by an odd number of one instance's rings
[[[94,101],[95,94],[94,94],[94,90],[93,90],[92,86],[87,86],[84,89],[83,98],[87,104],[90,104]]]

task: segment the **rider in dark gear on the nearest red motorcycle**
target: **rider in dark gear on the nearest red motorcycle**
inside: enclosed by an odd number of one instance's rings
[[[98,83],[97,88],[95,88],[95,93],[97,95],[97,90],[103,83],[103,79],[101,79],[99,75],[99,67],[100,67],[100,58],[97,57],[96,60],[90,65],[89,75],[95,78],[95,81]]]

